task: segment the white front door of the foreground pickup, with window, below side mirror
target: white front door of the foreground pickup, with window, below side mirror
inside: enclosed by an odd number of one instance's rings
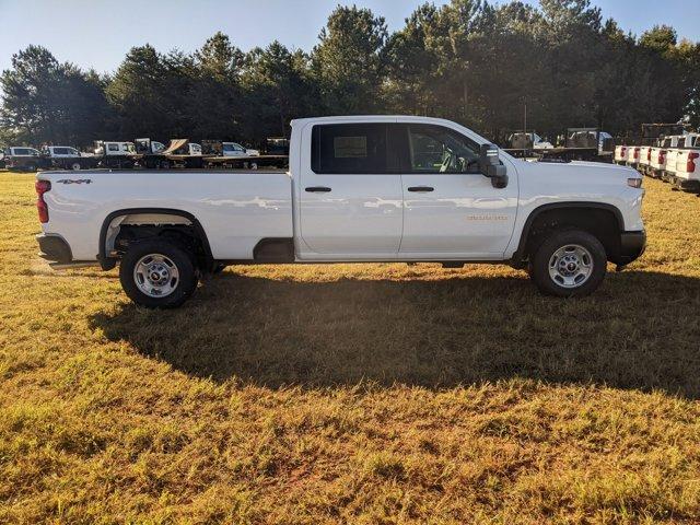
[[[494,188],[479,173],[479,144],[438,125],[396,125],[408,144],[402,171],[401,258],[500,259],[517,210],[517,176]]]

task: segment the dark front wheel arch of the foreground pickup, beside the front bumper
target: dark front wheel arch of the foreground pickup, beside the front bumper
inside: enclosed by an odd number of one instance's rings
[[[620,252],[620,233],[625,231],[621,211],[604,202],[553,202],[530,212],[513,256],[513,266],[524,268],[545,233],[576,228],[595,235],[605,247],[609,260],[616,262]]]

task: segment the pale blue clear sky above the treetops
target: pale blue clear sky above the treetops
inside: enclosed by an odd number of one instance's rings
[[[149,43],[163,52],[190,52],[217,31],[243,50],[275,39],[311,50],[338,3],[370,8],[396,31],[424,0],[0,0],[0,70],[11,66],[14,52],[39,44],[59,61],[112,72],[132,46]],[[592,3],[625,31],[639,35],[668,24],[679,37],[700,40],[700,0]]]

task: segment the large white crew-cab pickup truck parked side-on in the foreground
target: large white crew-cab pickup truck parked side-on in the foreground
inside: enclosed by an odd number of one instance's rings
[[[203,273],[276,262],[503,262],[585,295],[645,246],[634,170],[516,160],[448,120],[293,120],[289,166],[39,173],[42,256],[119,261],[131,300],[173,307]]]

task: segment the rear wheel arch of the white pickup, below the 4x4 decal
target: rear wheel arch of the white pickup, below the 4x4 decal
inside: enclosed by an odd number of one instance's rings
[[[211,271],[213,269],[214,259],[211,253],[209,238],[207,237],[207,232],[202,228],[199,220],[194,214],[187,211],[171,208],[128,208],[116,210],[109,213],[103,221],[102,228],[100,230],[100,247],[97,260],[102,265],[103,269],[112,269],[116,265],[117,258],[112,257],[109,253],[114,248],[114,242],[119,234],[120,224],[124,222],[124,220],[127,219],[142,219],[143,222],[139,220],[139,223],[142,225],[167,224],[172,226],[173,224],[176,224],[191,226],[196,234],[196,237],[201,243],[201,249],[203,252],[203,260],[201,261],[201,266],[203,266],[202,270]],[[172,222],[163,223],[161,221]]]

